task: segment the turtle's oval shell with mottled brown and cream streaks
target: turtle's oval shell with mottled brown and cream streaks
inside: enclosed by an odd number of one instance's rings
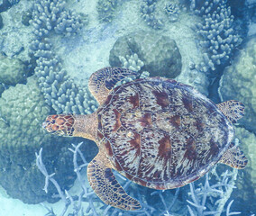
[[[205,175],[233,139],[233,126],[215,103],[164,78],[115,87],[97,115],[97,135],[114,168],[156,189]]]

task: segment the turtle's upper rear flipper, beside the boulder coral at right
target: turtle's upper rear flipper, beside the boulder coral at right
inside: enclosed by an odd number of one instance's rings
[[[229,121],[235,123],[244,115],[244,105],[235,100],[216,104]]]

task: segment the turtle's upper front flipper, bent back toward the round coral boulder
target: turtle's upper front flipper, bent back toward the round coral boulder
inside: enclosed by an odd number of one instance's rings
[[[127,76],[136,76],[137,73],[127,68],[105,67],[90,76],[89,90],[101,105],[114,85]]]

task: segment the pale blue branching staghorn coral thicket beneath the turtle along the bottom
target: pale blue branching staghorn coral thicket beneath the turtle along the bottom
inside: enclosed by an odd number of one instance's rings
[[[158,216],[158,215],[221,215],[222,212],[226,211],[226,215],[240,214],[238,211],[231,211],[233,209],[233,200],[229,202],[233,189],[238,170],[232,169],[232,171],[226,170],[224,172],[219,169],[219,166],[206,174],[195,183],[189,184],[176,190],[152,190],[146,187],[142,187],[138,184],[133,184],[131,181],[123,178],[122,175],[117,172],[114,175],[118,181],[123,185],[125,191],[136,197],[142,203],[142,209],[138,211],[122,211],[115,209],[111,206],[100,203],[99,198],[96,197],[95,193],[91,190],[87,183],[86,173],[84,172],[88,160],[85,158],[80,151],[83,147],[83,143],[78,145],[72,144],[72,148],[69,150],[73,153],[74,170],[78,176],[78,186],[80,191],[75,193],[71,190],[65,193],[59,187],[58,181],[55,180],[57,175],[50,174],[48,167],[44,165],[42,157],[42,149],[37,154],[37,166],[40,168],[43,175],[45,175],[44,190],[54,184],[58,189],[59,197],[61,197],[63,204],[63,211],[61,216],[65,215],[72,209],[73,215],[85,214],[89,216],[96,215],[123,215],[123,216]],[[44,151],[45,152],[45,151]],[[80,158],[80,162],[78,159]],[[223,167],[223,166],[222,166]],[[202,184],[204,183],[204,184]],[[189,190],[188,190],[189,188]],[[81,192],[82,191],[82,192]],[[187,200],[187,206],[184,202]],[[236,203],[236,201],[235,201]],[[49,214],[54,214],[54,210],[50,210],[46,207]],[[86,211],[85,211],[86,210]]]

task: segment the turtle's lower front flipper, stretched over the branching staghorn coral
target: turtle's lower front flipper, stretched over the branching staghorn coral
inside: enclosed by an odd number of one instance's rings
[[[140,202],[124,192],[104,154],[99,152],[87,166],[87,178],[96,195],[107,205],[126,211],[141,209]]]

